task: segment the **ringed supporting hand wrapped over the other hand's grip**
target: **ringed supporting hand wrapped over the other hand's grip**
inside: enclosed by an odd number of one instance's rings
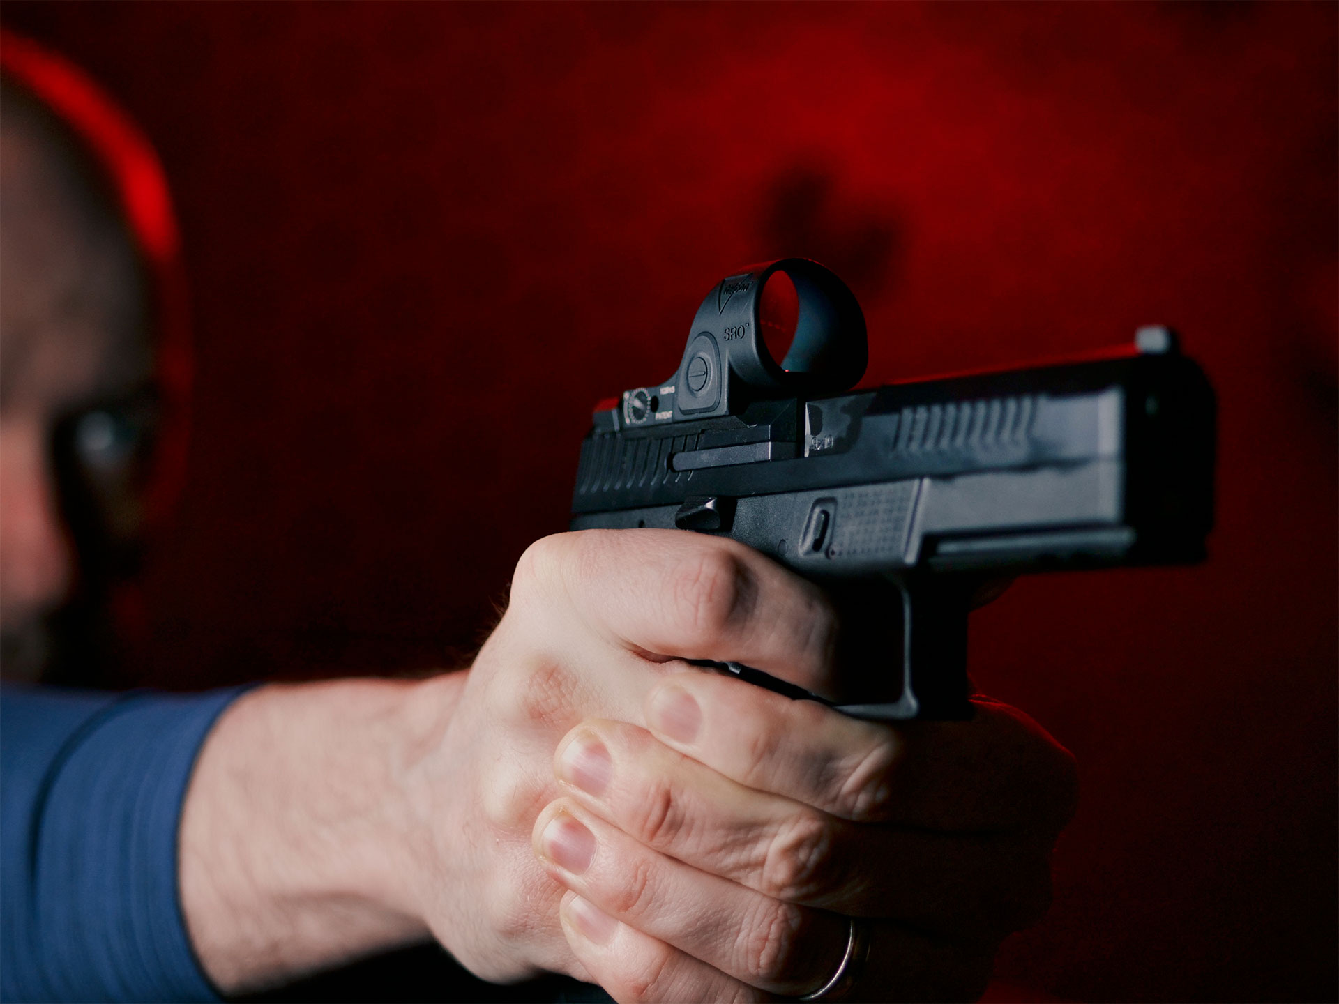
[[[975,709],[892,728],[688,671],[649,695],[649,731],[582,723],[534,829],[573,952],[619,1000],[794,996],[860,917],[850,996],[975,999],[1000,940],[1044,913],[1075,801],[1036,723]]]

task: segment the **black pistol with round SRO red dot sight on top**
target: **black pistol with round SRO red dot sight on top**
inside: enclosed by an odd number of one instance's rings
[[[967,612],[983,581],[1205,557],[1214,396],[1169,328],[1079,359],[852,391],[866,359],[860,304],[822,265],[727,276],[678,372],[596,411],[570,527],[728,535],[821,584],[884,629],[888,672],[866,660],[860,703],[837,707],[888,720],[969,715]]]

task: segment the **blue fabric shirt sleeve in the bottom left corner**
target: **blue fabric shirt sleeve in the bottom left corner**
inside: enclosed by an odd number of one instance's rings
[[[238,693],[0,688],[0,999],[218,999],[186,936],[177,827]]]

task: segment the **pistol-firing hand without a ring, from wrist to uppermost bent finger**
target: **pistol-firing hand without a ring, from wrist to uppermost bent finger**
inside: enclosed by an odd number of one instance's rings
[[[819,679],[836,632],[815,586],[732,541],[595,530],[532,546],[419,784],[432,833],[423,910],[438,938],[485,979],[589,979],[557,922],[564,890],[530,846],[561,794],[562,736],[590,718],[644,726],[648,695],[679,659]]]

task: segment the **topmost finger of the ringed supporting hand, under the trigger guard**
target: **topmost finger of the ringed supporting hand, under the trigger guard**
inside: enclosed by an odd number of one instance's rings
[[[971,722],[890,727],[691,672],[645,700],[657,739],[746,787],[856,822],[1054,839],[1074,811],[1073,758],[1007,704],[973,709]]]

